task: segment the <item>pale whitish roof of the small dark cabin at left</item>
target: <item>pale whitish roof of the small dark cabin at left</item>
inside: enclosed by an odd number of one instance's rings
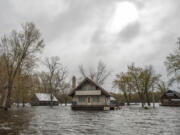
[[[35,95],[39,101],[51,101],[51,94],[49,93],[36,93]],[[54,95],[53,95],[53,101],[58,101]]]

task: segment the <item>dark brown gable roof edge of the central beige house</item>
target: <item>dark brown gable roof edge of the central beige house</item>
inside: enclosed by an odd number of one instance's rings
[[[101,92],[102,92],[105,96],[110,96],[110,94],[109,94],[105,89],[103,89],[101,86],[99,86],[97,83],[95,83],[94,81],[92,81],[92,80],[89,79],[88,77],[86,77],[76,88],[72,89],[68,95],[69,95],[69,96],[74,95],[75,91],[78,90],[78,89],[79,89],[84,83],[86,83],[86,82],[90,82],[90,83],[92,83],[93,85],[95,85],[96,87],[98,87],[98,89],[101,90]]]

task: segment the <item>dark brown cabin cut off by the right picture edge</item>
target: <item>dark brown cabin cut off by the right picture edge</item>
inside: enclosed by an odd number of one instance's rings
[[[168,90],[161,97],[162,106],[180,106],[180,93]]]

